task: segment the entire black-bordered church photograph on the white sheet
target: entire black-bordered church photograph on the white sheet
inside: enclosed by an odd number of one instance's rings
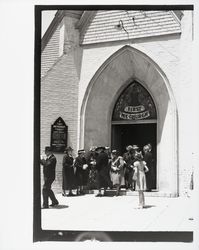
[[[35,6],[34,241],[192,242],[193,14]]]

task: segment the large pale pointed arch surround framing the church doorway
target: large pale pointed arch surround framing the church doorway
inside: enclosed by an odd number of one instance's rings
[[[85,149],[93,145],[111,146],[113,125],[116,126],[112,120],[115,104],[121,93],[135,81],[148,91],[156,107],[158,195],[163,193],[177,196],[178,133],[173,93],[160,67],[147,55],[131,46],[124,46],[109,57],[88,84],[80,114],[80,146]],[[134,121],[134,126],[136,124]],[[145,119],[142,120],[140,131],[141,127],[143,131],[146,130],[144,124]],[[128,129],[128,126],[123,128]],[[154,128],[151,128],[152,130]]]

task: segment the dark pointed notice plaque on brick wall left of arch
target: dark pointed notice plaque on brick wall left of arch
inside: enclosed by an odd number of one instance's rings
[[[53,125],[51,125],[51,147],[53,152],[63,153],[67,147],[68,127],[64,120],[59,117]]]

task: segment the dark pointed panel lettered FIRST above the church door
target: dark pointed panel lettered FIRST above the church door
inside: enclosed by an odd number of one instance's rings
[[[118,98],[112,120],[144,119],[157,119],[155,104],[149,92],[138,82],[133,82]]]

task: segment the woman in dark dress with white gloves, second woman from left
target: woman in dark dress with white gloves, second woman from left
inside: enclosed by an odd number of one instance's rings
[[[84,150],[78,150],[78,156],[75,159],[74,167],[76,168],[77,195],[83,194],[83,188],[87,185],[89,174]]]

